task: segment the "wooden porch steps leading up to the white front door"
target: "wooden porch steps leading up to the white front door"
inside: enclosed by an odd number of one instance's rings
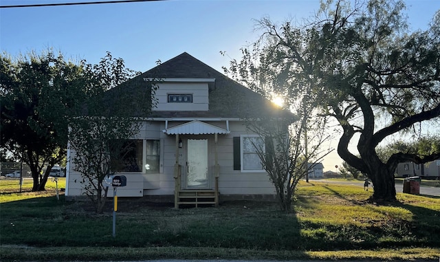
[[[179,190],[177,205],[195,206],[216,205],[214,190]]]

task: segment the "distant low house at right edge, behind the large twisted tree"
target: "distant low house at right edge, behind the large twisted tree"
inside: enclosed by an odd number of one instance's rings
[[[397,177],[440,177],[440,160],[435,160],[425,164],[415,164],[413,162],[402,162],[396,168]]]

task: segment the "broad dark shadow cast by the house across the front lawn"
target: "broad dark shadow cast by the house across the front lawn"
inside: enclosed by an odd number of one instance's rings
[[[111,206],[111,199],[107,204]],[[296,215],[286,215],[274,203],[228,201],[219,208],[177,210],[169,203],[122,199],[115,238],[111,210],[106,207],[104,214],[98,215],[89,206],[89,202],[66,202],[64,196],[60,201],[50,196],[3,203],[2,243],[33,247],[307,250]]]

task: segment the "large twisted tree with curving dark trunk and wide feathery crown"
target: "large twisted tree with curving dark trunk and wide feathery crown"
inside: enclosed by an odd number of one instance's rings
[[[301,26],[261,19],[256,67],[275,73],[269,79],[309,83],[309,94],[322,98],[322,116],[342,129],[340,157],[369,176],[373,201],[395,201],[399,162],[440,157],[399,152],[381,160],[376,151],[386,138],[417,135],[420,123],[440,116],[440,11],[428,30],[407,32],[402,1],[353,4],[322,3],[320,17]],[[355,134],[359,156],[348,149]]]

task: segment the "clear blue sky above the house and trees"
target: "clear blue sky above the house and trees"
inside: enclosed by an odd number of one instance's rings
[[[0,0],[0,6],[85,1],[91,0]],[[406,5],[412,31],[426,29],[440,10],[439,0],[407,0]],[[52,48],[65,58],[88,63],[98,63],[108,51],[140,72],[155,67],[157,60],[188,52],[223,72],[221,67],[239,59],[240,48],[261,34],[254,30],[256,20],[301,21],[319,6],[319,0],[168,0],[0,8],[0,49],[19,56]],[[323,162],[325,171],[336,171],[341,162],[331,153]]]

